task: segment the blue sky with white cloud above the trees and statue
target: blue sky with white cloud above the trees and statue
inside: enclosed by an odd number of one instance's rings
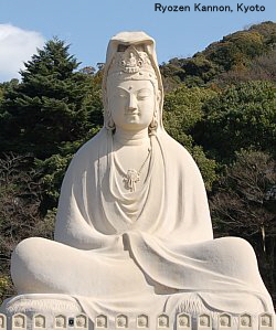
[[[162,13],[155,11],[155,3],[190,6],[191,11]],[[194,3],[231,6],[233,12],[194,11]],[[264,6],[265,11],[245,13],[236,10],[237,3]],[[107,43],[116,33],[145,31],[156,40],[162,63],[192,56],[263,21],[276,21],[276,0],[0,0],[0,82],[19,78],[23,62],[53,36],[71,44],[82,68],[105,62]]]

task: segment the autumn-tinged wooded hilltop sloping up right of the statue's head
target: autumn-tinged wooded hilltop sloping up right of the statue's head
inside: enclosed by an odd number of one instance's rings
[[[167,91],[181,82],[189,87],[215,82],[217,75],[246,71],[252,61],[275,49],[276,23],[264,22],[248,30],[237,31],[210,44],[204,51],[189,58],[172,58],[160,66]],[[270,64],[270,67],[274,67]]]

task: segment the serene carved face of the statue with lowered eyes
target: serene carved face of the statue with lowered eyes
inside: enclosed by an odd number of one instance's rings
[[[153,117],[155,88],[149,81],[125,81],[107,87],[115,126],[123,130],[147,128]]]

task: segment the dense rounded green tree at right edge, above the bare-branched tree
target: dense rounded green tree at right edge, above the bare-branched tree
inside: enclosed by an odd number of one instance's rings
[[[219,161],[254,147],[275,152],[276,86],[268,82],[233,85],[204,104],[195,140]]]

